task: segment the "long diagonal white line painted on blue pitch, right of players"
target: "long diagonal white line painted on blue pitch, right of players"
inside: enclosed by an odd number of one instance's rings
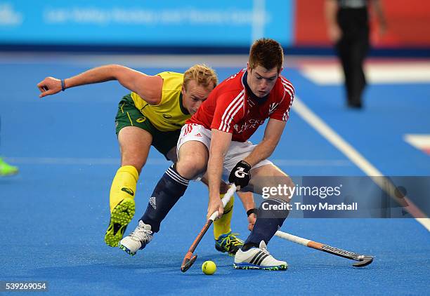
[[[309,109],[304,102],[298,97],[294,97],[293,104],[294,112],[297,112],[299,116],[301,116],[304,121],[306,121],[310,126],[312,126],[320,135],[325,137],[327,141],[332,143],[334,147],[339,149],[348,159],[350,159],[353,163],[358,166],[363,172],[368,175],[372,180],[381,187],[384,191],[386,191],[393,199],[396,199],[394,196],[394,192],[396,188],[394,185],[386,178],[382,173],[377,170],[372,163],[367,161],[363,155],[361,155],[354,147],[351,146],[346,140],[344,140],[340,135],[338,135],[330,126],[327,125],[322,119],[320,119],[315,113]],[[422,213],[417,206],[415,206],[408,197],[404,197],[405,201],[408,203],[408,207],[405,207],[405,210],[415,217],[419,223],[421,223],[427,230],[430,231],[430,219],[426,217],[424,213]]]

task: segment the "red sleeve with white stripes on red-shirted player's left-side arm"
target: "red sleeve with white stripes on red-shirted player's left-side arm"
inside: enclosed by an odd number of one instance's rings
[[[226,133],[233,133],[235,123],[240,121],[244,116],[245,108],[245,90],[238,95],[232,96],[231,93],[225,93],[216,100],[214,119],[212,119],[211,128],[221,130]]]

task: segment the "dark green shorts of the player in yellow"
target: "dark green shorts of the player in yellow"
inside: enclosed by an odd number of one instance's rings
[[[181,134],[180,129],[171,132],[157,130],[155,126],[152,126],[149,119],[134,106],[131,95],[126,95],[119,102],[117,116],[115,117],[117,135],[119,130],[126,126],[137,126],[138,128],[148,131],[148,133],[152,135],[152,146],[162,153],[166,159],[167,153],[172,148],[176,147],[179,135]]]

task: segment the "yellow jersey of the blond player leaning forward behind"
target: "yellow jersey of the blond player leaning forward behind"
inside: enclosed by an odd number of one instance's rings
[[[163,79],[162,100],[158,105],[149,105],[137,93],[131,93],[131,98],[136,108],[157,130],[163,132],[178,130],[191,117],[182,105],[183,74],[161,72],[157,75]]]

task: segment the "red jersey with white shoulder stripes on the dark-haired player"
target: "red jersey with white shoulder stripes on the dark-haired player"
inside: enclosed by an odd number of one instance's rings
[[[259,100],[245,87],[246,72],[242,69],[216,86],[186,123],[233,133],[233,141],[245,142],[267,118],[287,121],[294,98],[292,83],[279,76],[266,100]]]

